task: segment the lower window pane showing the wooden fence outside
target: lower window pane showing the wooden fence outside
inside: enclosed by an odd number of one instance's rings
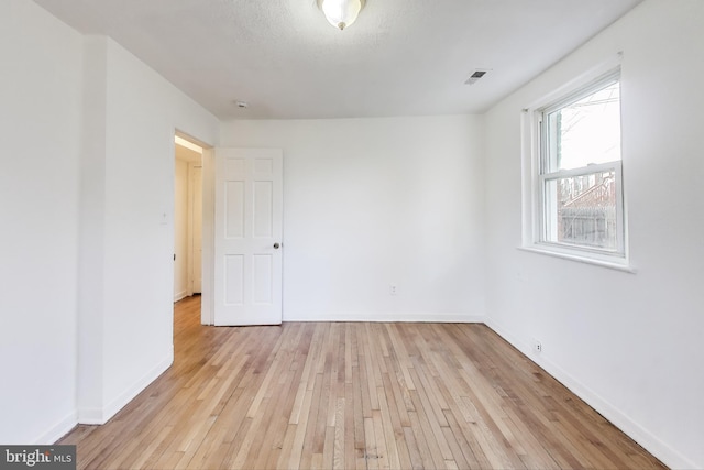
[[[618,249],[616,172],[546,181],[546,241]]]

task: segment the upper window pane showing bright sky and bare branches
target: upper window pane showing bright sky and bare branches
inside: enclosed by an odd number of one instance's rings
[[[547,116],[548,172],[620,160],[618,81]]]

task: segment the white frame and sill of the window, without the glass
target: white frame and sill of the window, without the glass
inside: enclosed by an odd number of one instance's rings
[[[620,59],[620,55],[618,59]],[[613,84],[616,80],[620,83],[620,64],[618,62],[609,61],[595,67],[590,73],[560,87],[554,92],[537,100],[532,106],[522,110],[524,233],[520,248],[542,254],[635,272],[628,260],[628,225],[626,199],[624,196],[623,155],[620,161],[573,170],[547,171],[547,168],[549,168],[549,162],[546,161],[546,159],[548,159],[547,149],[543,147],[546,135],[541,127],[543,116],[548,116],[550,112],[596,92],[608,86],[608,84]],[[623,95],[620,96],[620,100],[623,111]],[[616,183],[616,249],[605,250],[586,245],[547,241],[549,239],[549,237],[547,237],[549,221],[546,220],[547,210],[544,210],[547,204],[544,196],[547,182],[606,171],[614,172]]]

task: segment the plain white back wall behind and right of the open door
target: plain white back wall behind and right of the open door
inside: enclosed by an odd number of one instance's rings
[[[224,123],[222,146],[284,151],[284,319],[483,318],[482,133],[479,117]]]

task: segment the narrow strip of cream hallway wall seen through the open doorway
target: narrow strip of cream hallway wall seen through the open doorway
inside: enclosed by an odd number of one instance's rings
[[[177,145],[178,149],[178,145]],[[176,151],[178,155],[178,150]],[[174,188],[174,302],[188,295],[188,162],[176,159]]]

